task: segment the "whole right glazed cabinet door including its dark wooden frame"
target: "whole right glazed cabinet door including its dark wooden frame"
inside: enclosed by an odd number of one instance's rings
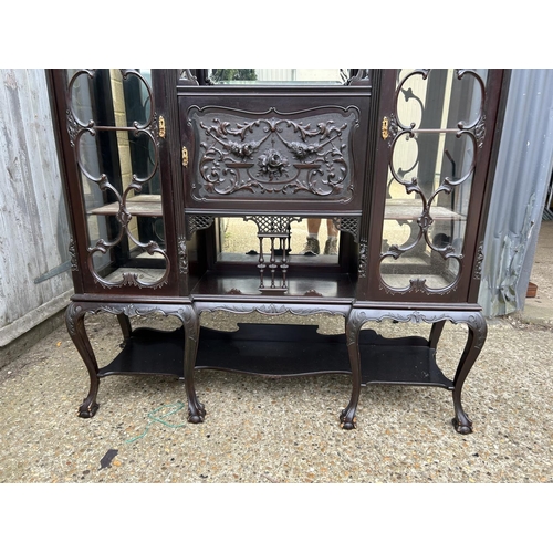
[[[383,72],[363,299],[469,301],[501,81],[501,70]]]

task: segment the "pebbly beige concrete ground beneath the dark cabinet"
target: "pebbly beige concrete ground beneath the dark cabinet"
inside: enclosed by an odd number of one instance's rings
[[[107,315],[88,326],[102,364],[119,331]],[[442,368],[455,369],[465,335],[446,327]],[[364,388],[357,429],[342,430],[345,376],[200,372],[208,415],[197,426],[179,409],[181,382],[114,376],[102,380],[100,410],[84,420],[75,414],[87,376],[61,327],[0,373],[0,481],[553,482],[552,340],[547,327],[490,325],[463,390],[474,432],[460,436],[450,393],[415,387]],[[175,409],[148,426],[149,415]]]

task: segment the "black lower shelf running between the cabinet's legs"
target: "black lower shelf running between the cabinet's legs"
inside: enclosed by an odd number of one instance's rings
[[[239,324],[237,332],[201,328],[196,369],[219,369],[272,378],[351,374],[345,334],[319,334],[314,325]],[[137,328],[98,376],[184,377],[185,334]],[[439,386],[453,389],[436,364],[435,349],[419,336],[385,338],[359,334],[362,383]]]

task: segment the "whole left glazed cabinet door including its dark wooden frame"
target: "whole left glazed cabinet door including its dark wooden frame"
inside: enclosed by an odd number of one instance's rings
[[[178,293],[166,77],[144,69],[52,72],[77,293]]]

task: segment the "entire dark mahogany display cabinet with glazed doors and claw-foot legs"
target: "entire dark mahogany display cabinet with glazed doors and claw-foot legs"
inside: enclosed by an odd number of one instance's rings
[[[450,390],[455,428],[470,432],[461,390],[486,340],[477,298],[508,73],[255,72],[50,72],[73,232],[66,323],[91,382],[80,416],[94,416],[112,374],[184,378],[201,422],[196,371],[340,373],[352,378],[345,429],[361,387],[384,383]],[[313,225],[335,250],[321,238],[319,254],[302,252]],[[341,315],[344,334],[200,331],[216,311]],[[98,312],[124,338],[105,367],[84,325]],[[133,327],[150,313],[182,326]],[[386,320],[431,331],[363,328]],[[452,379],[436,363],[447,321],[468,327]]]

